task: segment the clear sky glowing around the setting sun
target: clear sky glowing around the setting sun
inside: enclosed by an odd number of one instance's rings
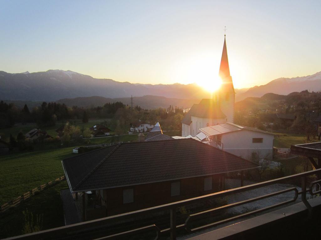
[[[0,70],[235,88],[321,71],[321,1],[0,0]]]

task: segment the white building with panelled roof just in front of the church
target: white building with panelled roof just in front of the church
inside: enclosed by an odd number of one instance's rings
[[[273,156],[274,134],[257,128],[232,123],[219,124],[199,129],[209,144],[250,161]]]

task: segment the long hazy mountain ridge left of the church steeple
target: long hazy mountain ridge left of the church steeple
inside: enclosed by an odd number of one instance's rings
[[[244,92],[244,89],[235,91]],[[197,84],[131,84],[105,78],[93,78],[69,70],[48,70],[36,73],[0,71],[1,100],[56,101],[91,96],[111,99],[126,98],[131,95],[135,97],[153,95],[178,99],[211,97],[209,92],[204,91]]]

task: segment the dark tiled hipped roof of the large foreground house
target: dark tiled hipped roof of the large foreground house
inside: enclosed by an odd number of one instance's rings
[[[130,142],[62,161],[72,192],[115,188],[257,168],[193,139]]]

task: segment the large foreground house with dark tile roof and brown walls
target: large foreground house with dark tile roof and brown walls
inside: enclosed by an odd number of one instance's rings
[[[71,193],[86,203],[86,220],[217,192],[224,174],[258,167],[194,139],[121,143],[62,164]]]

